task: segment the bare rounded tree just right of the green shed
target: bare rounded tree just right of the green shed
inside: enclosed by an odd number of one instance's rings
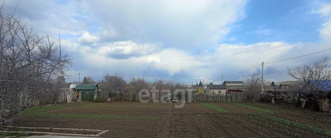
[[[103,77],[103,82],[101,81],[101,88],[105,88],[109,90],[111,96],[112,96],[112,101],[114,102],[114,94],[116,92],[122,92],[126,83],[125,80],[123,79],[123,76],[120,75],[118,72],[115,72],[113,75],[110,75],[109,73],[104,74]]]

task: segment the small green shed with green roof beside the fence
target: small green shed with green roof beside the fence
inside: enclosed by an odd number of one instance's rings
[[[98,84],[78,84],[75,88],[80,101],[92,102],[97,97]]]

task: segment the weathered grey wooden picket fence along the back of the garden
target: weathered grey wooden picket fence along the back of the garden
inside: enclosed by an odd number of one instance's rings
[[[31,106],[42,106],[48,104],[60,104],[60,103],[68,103],[67,95],[70,95],[71,101],[76,100],[76,92],[75,91],[62,91],[58,96],[45,96],[41,98],[31,98],[26,102],[26,105]],[[108,98],[112,97],[109,92],[101,92],[101,97]],[[263,94],[252,95],[248,93],[234,93],[234,94],[217,94],[217,95],[207,95],[207,94],[185,94],[186,102],[260,102],[261,99],[266,96]],[[113,93],[113,97],[115,100],[120,101],[135,101],[140,102],[138,94],[136,93]],[[166,94],[150,94],[149,97],[143,97],[143,100],[149,100],[149,102],[153,101],[164,101],[166,99],[176,99],[182,100],[181,95],[173,96]]]

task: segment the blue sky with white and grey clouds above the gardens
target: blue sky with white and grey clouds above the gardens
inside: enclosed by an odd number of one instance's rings
[[[39,34],[55,38],[60,31],[61,48],[74,63],[67,82],[78,80],[78,73],[81,80],[101,80],[119,72],[126,80],[140,75],[220,84],[222,74],[331,48],[327,0],[6,1],[3,12],[14,11]],[[290,80],[275,70],[330,54],[266,64],[272,69],[264,67],[264,77]],[[253,71],[261,66],[223,81],[240,81]]]

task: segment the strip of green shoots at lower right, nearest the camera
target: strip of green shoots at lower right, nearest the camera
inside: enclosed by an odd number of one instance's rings
[[[265,119],[265,120],[280,122],[280,123],[283,123],[285,125],[292,125],[294,127],[311,130],[311,131],[314,132],[314,134],[322,133],[322,134],[325,134],[327,136],[331,136],[331,131],[327,130],[327,129],[322,129],[322,128],[318,128],[318,127],[315,127],[315,126],[302,124],[302,123],[298,123],[298,122],[293,122],[293,121],[290,121],[290,120],[287,120],[287,119],[283,119],[283,118],[279,118],[279,117],[275,117],[275,116],[271,116],[271,115],[266,115],[266,114],[254,114],[254,115],[258,115],[259,117],[261,117],[262,119]]]

